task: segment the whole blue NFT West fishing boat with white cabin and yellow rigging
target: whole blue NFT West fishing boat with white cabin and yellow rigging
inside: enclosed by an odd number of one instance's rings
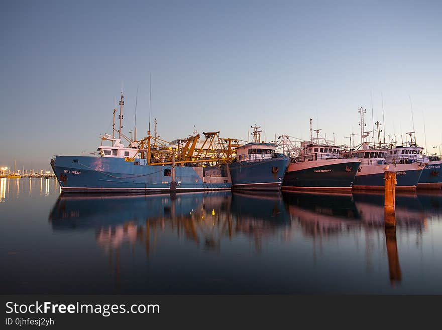
[[[51,166],[63,192],[159,193],[205,190],[229,190],[232,186],[227,162],[232,156],[231,139],[219,138],[219,132],[204,133],[210,150],[224,154],[208,154],[201,146],[195,149],[199,134],[175,148],[156,134],[132,140],[121,132],[123,93],[120,100],[120,129],[113,135],[101,136],[101,145],[94,156],[55,156]],[[115,131],[118,138],[114,136]],[[136,132],[136,129],[135,129]],[[122,136],[129,145],[122,143]],[[104,145],[104,141],[112,145]],[[224,142],[225,141],[225,142]],[[216,147],[215,144],[226,143]],[[205,152],[203,152],[205,150]]]

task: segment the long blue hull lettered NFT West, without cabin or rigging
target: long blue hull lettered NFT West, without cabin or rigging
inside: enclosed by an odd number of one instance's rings
[[[145,163],[144,159],[129,162],[124,158],[56,156],[53,170],[63,192],[169,191],[172,167],[143,165]],[[205,183],[193,167],[176,166],[175,169],[177,192],[229,190],[232,186],[230,180]]]

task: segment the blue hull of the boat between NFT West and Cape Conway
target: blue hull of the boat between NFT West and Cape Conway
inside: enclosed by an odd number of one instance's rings
[[[230,165],[232,189],[280,190],[287,165],[287,157],[234,162]]]

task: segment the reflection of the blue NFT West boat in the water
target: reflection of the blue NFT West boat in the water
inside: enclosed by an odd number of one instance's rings
[[[157,231],[176,232],[207,249],[219,245],[219,235],[231,231],[227,216],[230,192],[160,195],[61,195],[49,219],[54,230],[94,229],[106,252],[122,244],[144,244],[149,254]],[[153,237],[152,237],[153,236]],[[153,242],[151,242],[153,240]]]

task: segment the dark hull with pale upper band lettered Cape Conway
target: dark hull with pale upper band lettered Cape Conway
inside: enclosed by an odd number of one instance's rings
[[[358,159],[329,159],[291,163],[282,190],[351,191]]]

